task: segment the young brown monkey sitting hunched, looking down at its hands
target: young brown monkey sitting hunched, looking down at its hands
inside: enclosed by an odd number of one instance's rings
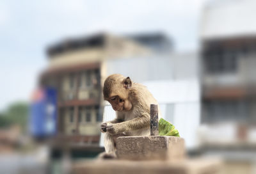
[[[109,75],[104,81],[103,97],[116,111],[116,118],[101,123],[105,153],[102,158],[116,158],[116,139],[120,136],[150,135],[150,104],[157,100],[146,86],[134,83],[121,74]],[[159,118],[161,112],[159,111]]]

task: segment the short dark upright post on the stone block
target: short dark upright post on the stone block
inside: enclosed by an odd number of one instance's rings
[[[150,136],[158,136],[158,106],[150,104]]]

